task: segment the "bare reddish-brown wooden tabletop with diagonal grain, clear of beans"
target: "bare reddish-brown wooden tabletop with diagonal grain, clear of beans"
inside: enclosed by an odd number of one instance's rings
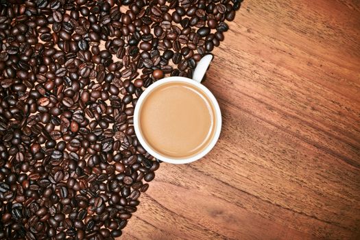
[[[360,1],[245,0],[229,25],[219,142],[161,165],[123,239],[360,239]]]

